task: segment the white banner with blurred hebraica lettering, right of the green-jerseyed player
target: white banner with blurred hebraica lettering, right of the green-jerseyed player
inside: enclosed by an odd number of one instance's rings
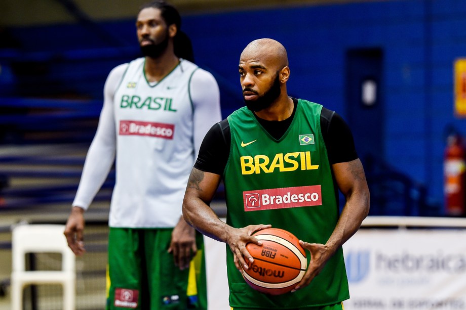
[[[466,230],[361,229],[343,245],[354,309],[466,309]]]

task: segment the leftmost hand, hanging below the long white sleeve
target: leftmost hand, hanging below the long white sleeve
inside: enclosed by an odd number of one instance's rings
[[[84,247],[84,209],[73,207],[66,222],[64,234],[69,248],[75,255],[83,255]]]

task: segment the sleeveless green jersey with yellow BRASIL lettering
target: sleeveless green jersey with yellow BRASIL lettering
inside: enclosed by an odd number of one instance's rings
[[[321,110],[319,104],[298,100],[294,118],[279,140],[246,107],[228,116],[231,147],[223,175],[228,225],[271,224],[309,243],[327,242],[339,212]],[[272,296],[249,287],[228,247],[227,272],[232,307],[283,309],[350,298],[341,248],[307,287],[294,293]]]

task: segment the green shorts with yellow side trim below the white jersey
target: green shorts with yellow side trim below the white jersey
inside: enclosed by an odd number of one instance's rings
[[[106,309],[207,309],[202,235],[190,268],[168,253],[173,229],[110,228]]]

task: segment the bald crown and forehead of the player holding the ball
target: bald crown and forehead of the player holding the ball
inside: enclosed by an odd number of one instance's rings
[[[240,62],[257,61],[281,70],[288,66],[285,47],[274,39],[257,39],[248,44],[241,53]]]

